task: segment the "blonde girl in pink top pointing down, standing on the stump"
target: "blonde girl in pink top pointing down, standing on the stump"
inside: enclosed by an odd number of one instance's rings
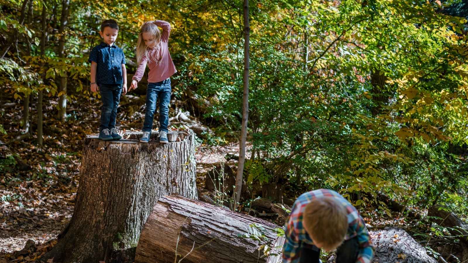
[[[159,30],[162,28],[162,33]],[[138,87],[138,82],[149,67],[146,88],[146,113],[143,123],[143,136],[140,142],[147,143],[153,128],[154,112],[159,97],[159,142],[168,142],[169,102],[171,98],[170,77],[177,72],[169,54],[168,41],[171,25],[162,20],[145,22],[140,29],[137,44],[138,68],[133,75],[130,90]]]

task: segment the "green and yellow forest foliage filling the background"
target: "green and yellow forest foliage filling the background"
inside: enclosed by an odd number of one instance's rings
[[[117,45],[131,62],[141,23],[162,19],[172,25],[174,95],[197,104],[187,108],[219,126],[205,141],[223,144],[240,130],[241,1],[104,0],[83,7],[73,0],[64,58],[57,53],[60,36],[50,29],[45,58],[40,56],[40,23],[20,23],[21,4],[2,2],[0,11],[0,32],[8,39],[17,33],[20,40],[17,52],[0,59],[7,96],[21,100],[43,90],[51,101],[59,95],[90,99],[87,58],[100,42],[100,22],[117,19]],[[379,193],[421,206],[468,194],[463,1],[249,4],[248,183],[284,183],[294,195],[333,188],[355,205],[380,210]],[[51,5],[48,18],[52,10],[60,14],[60,3]],[[37,19],[42,4],[33,8]],[[66,94],[58,92],[59,76],[67,76]],[[221,188],[217,198],[219,204],[227,198]]]

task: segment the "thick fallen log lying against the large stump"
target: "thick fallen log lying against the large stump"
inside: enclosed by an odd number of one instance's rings
[[[252,224],[256,227],[250,227]],[[179,195],[165,196],[159,199],[146,221],[135,262],[278,263],[284,242],[284,238],[276,234],[278,227],[262,219]],[[266,239],[256,241],[240,236],[252,234],[253,229],[262,231]],[[279,250],[271,253],[277,256],[263,256],[263,249],[258,250],[263,244]],[[177,261],[174,260],[176,254]]]

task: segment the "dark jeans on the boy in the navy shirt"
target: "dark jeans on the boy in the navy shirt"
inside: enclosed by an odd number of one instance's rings
[[[99,131],[116,127],[117,107],[122,94],[122,84],[107,85],[99,84],[101,93],[101,125]]]

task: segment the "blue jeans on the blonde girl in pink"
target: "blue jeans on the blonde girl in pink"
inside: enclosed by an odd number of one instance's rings
[[[169,102],[171,100],[171,79],[148,83],[146,88],[146,113],[143,131],[153,128],[154,112],[159,97],[159,130],[168,131]]]

